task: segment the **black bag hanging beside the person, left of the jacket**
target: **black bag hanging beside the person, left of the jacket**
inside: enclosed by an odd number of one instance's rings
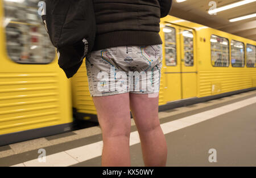
[[[92,1],[44,0],[43,3],[43,23],[67,78],[77,73],[86,54],[93,49],[96,20]]]

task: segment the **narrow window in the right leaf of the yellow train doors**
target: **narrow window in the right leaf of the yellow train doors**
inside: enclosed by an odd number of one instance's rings
[[[184,64],[185,66],[194,65],[194,50],[193,50],[193,33],[189,31],[183,31],[184,39]]]

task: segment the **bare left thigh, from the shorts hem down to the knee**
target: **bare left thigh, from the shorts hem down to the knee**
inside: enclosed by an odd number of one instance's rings
[[[93,97],[103,137],[130,134],[129,93]]]

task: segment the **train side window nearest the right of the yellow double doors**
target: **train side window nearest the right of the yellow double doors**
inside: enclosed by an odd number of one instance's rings
[[[212,35],[210,37],[212,65],[217,67],[229,66],[229,40]]]

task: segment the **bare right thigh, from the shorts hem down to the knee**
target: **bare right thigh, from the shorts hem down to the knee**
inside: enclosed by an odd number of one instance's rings
[[[130,93],[130,108],[138,132],[148,131],[160,125],[158,117],[158,95]]]

